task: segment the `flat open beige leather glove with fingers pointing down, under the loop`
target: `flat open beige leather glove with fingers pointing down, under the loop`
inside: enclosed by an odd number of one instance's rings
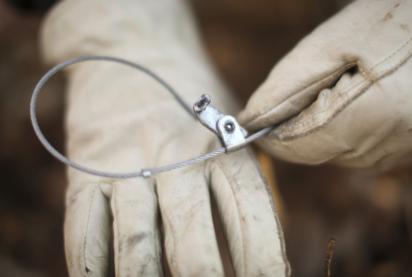
[[[150,68],[187,103],[207,93],[222,112],[235,111],[178,0],[61,2],[44,23],[42,52],[49,63],[91,54],[124,58]],[[220,148],[212,132],[136,69],[89,61],[66,73],[67,152],[80,164],[138,171]],[[210,190],[236,276],[289,275],[272,196],[249,149],[149,179],[68,169],[68,182],[70,276],[108,275],[112,238],[116,276],[164,275],[161,224],[173,276],[222,276]]]

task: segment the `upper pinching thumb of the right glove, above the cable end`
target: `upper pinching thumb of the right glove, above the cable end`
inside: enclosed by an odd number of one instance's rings
[[[327,28],[318,28],[303,39],[272,69],[239,114],[243,127],[258,130],[299,114],[321,90],[332,86],[356,65],[356,60],[341,52],[329,51],[335,34],[324,29]]]

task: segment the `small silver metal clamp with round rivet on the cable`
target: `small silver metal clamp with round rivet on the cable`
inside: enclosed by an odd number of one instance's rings
[[[209,95],[202,95],[194,103],[193,110],[200,123],[218,136],[220,145],[226,148],[226,154],[246,147],[245,138],[248,132],[232,115],[224,115],[210,105]]]

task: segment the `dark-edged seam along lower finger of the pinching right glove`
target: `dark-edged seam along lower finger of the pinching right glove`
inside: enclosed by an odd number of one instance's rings
[[[283,137],[283,138],[280,138],[279,136],[272,136],[272,137],[273,137],[273,138],[276,138],[277,140],[280,140],[280,141],[288,141],[288,140],[292,140],[292,139],[294,139],[294,138],[298,138],[298,137],[301,137],[301,136],[305,136],[305,135],[307,135],[307,134],[310,134],[311,132],[316,131],[317,129],[320,129],[320,128],[324,127],[324,126],[327,125],[330,121],[332,121],[341,111],[343,111],[344,108],[346,108],[346,106],[348,106],[351,102],[353,102],[356,98],[358,98],[358,97],[359,97],[360,95],[362,95],[366,90],[368,90],[374,83],[376,83],[377,81],[385,78],[386,76],[389,76],[390,74],[392,74],[393,72],[395,72],[396,69],[398,69],[398,68],[400,68],[402,65],[404,65],[404,64],[407,62],[407,60],[409,60],[409,58],[410,58],[411,56],[412,56],[412,49],[410,49],[410,50],[403,56],[403,58],[401,58],[401,59],[400,59],[395,65],[393,65],[392,67],[389,67],[388,69],[381,70],[380,72],[377,72],[376,74],[370,76],[370,81],[369,81],[368,83],[366,83],[365,85],[363,85],[350,99],[348,99],[346,102],[344,102],[341,106],[337,107],[337,108],[332,112],[332,115],[331,115],[329,118],[320,120],[320,121],[318,121],[318,122],[316,122],[316,123],[314,123],[314,124],[312,124],[312,125],[304,128],[304,129],[301,129],[300,131],[297,131],[297,132],[288,134],[287,137]],[[379,74],[380,74],[380,76],[378,76]],[[359,85],[360,83],[363,83],[363,82],[365,82],[365,81],[368,81],[368,80],[365,79],[365,80],[357,83],[356,85],[354,85],[354,86],[352,86],[351,88],[349,88],[349,90],[353,89],[354,87],[356,87],[357,85]],[[331,104],[332,104],[333,102],[335,102],[335,100],[338,99],[339,97],[342,97],[342,95],[346,95],[346,93],[347,93],[349,90],[346,90],[345,92],[343,92],[342,94],[340,94],[338,97],[336,97],[336,98],[331,102]],[[321,111],[321,112],[319,112],[319,113],[316,113],[315,115],[318,115],[318,114],[323,113],[323,112],[327,111],[328,109],[330,109],[330,108],[331,108],[331,104],[328,106],[328,108],[325,108],[323,111]],[[315,115],[312,115],[312,116],[309,117],[309,118],[312,118],[312,117],[315,116]],[[309,120],[309,118],[306,118],[305,120],[300,121],[299,123],[295,123],[294,125],[288,127],[288,129],[291,129],[291,128],[299,125],[299,124],[302,124],[302,123],[306,122],[307,120]],[[310,129],[310,128],[314,127],[315,125],[318,125],[318,124],[321,123],[322,121],[324,121],[324,122],[323,122],[321,125],[313,128],[313,129],[311,129],[311,130],[309,130],[309,131],[307,131],[307,132],[303,132],[303,131],[306,131],[307,129]]]

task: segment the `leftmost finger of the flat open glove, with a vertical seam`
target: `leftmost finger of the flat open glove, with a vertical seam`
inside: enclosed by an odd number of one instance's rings
[[[64,222],[65,252],[70,276],[109,273],[111,213],[97,183],[70,183]]]

